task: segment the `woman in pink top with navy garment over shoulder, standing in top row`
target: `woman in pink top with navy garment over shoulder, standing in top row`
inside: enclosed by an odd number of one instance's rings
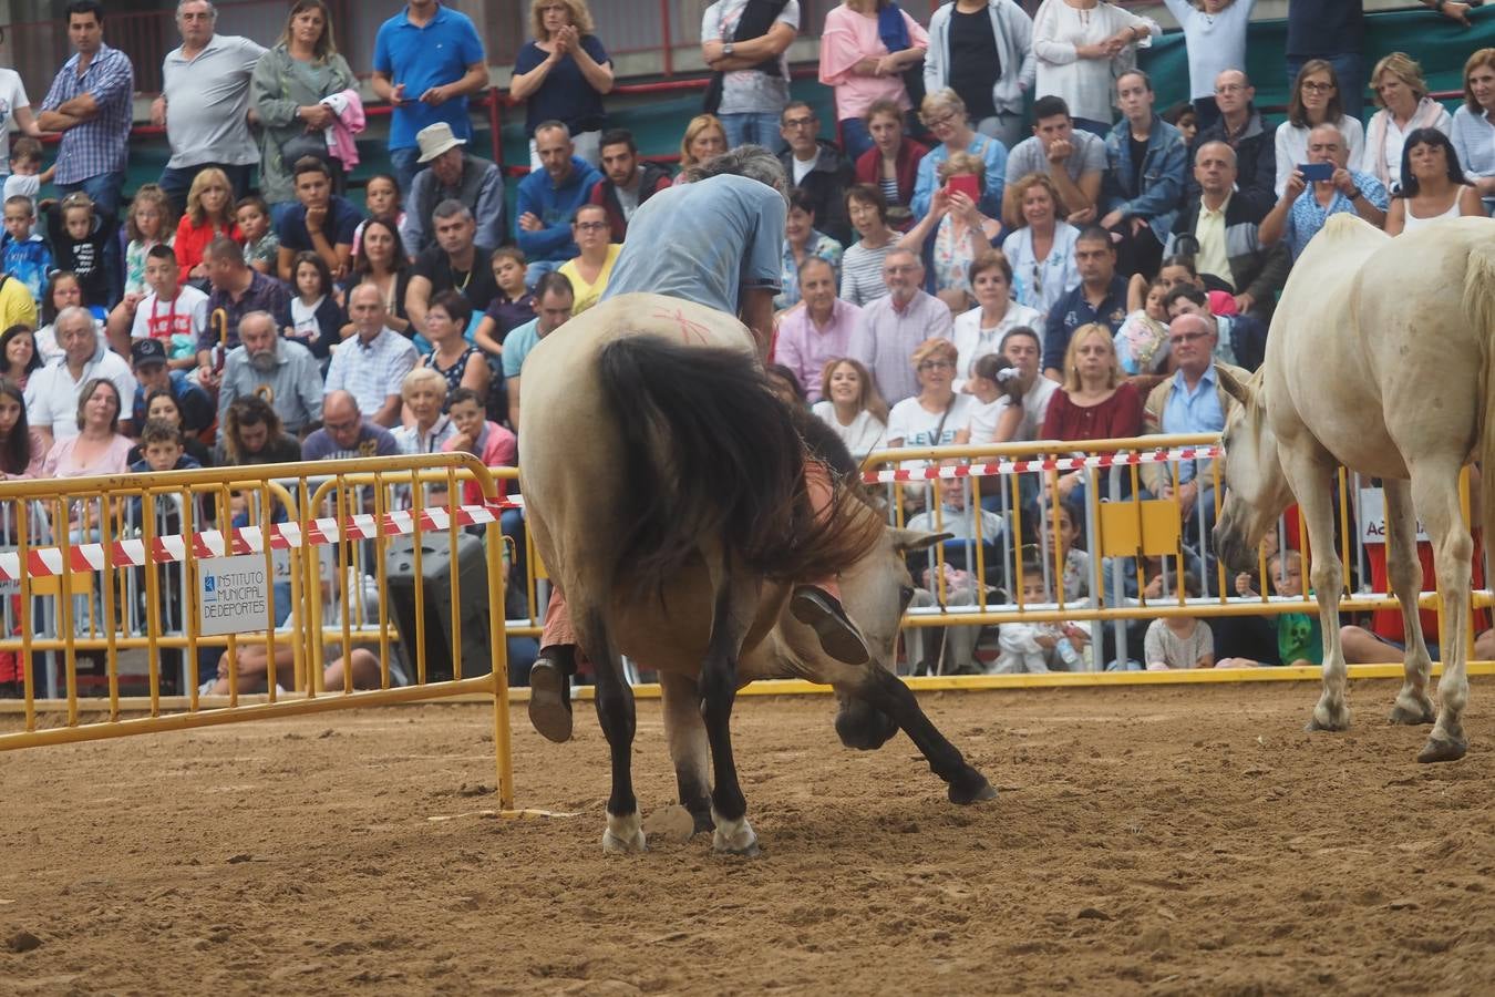
[[[836,88],[842,148],[855,161],[872,148],[864,121],[873,102],[910,109],[903,72],[924,61],[930,36],[890,0],[843,0],[825,15],[821,82]]]

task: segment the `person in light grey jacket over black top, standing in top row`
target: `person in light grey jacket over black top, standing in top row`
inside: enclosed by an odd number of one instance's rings
[[[930,16],[924,90],[954,90],[976,130],[1009,149],[1027,138],[1023,96],[1035,73],[1033,19],[1012,0],[949,0]]]

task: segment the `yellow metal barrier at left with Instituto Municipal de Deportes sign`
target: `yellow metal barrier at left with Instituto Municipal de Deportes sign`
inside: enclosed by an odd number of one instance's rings
[[[314,480],[323,483],[314,486]],[[432,480],[447,484],[444,507],[422,505],[423,484]],[[0,750],[483,694],[493,701],[499,806],[513,810],[502,541],[496,517],[492,517],[481,528],[490,661],[481,662],[477,674],[465,676],[463,599],[460,562],[456,556],[463,540],[457,514],[459,481],[475,481],[484,502],[499,495],[495,474],[469,454],[0,483],[0,507],[6,510],[4,523],[15,543],[15,562],[7,570],[18,574],[15,598],[19,605],[19,634],[0,638],[0,652],[13,653],[21,662],[25,712],[22,731],[0,734]],[[411,496],[407,510],[396,510],[387,501],[389,495],[399,490]],[[368,507],[362,505],[365,498],[371,502]],[[239,507],[239,514],[248,517],[250,528],[230,531],[229,523]],[[431,513],[431,522],[425,513]],[[434,526],[441,514],[446,525]],[[330,535],[323,535],[324,526],[330,523],[317,523],[324,517],[336,520]],[[271,541],[272,534],[283,540]],[[408,534],[417,561],[413,605],[416,632],[398,644],[398,634],[392,632],[389,619],[387,577],[387,556],[396,534]],[[446,534],[453,555],[449,592],[426,592],[419,571],[422,541],[432,534]],[[287,543],[292,537],[321,543]],[[335,550],[339,570],[330,578],[321,570],[323,552],[329,549]],[[181,558],[173,559],[173,552]],[[232,596],[224,595],[223,604],[217,602],[217,592],[209,599],[205,589],[202,575],[206,568],[202,558],[206,555],[244,558],[230,565],[242,567],[242,571],[221,575],[241,586]],[[274,625],[274,580],[281,558],[286,559],[290,587],[289,629]],[[363,616],[363,568],[372,570],[369,577],[378,602],[377,619],[368,625]],[[173,605],[173,599],[163,590],[172,584],[176,572],[181,575],[176,595],[179,605]],[[338,626],[330,628],[330,635],[341,644],[342,682],[341,689],[332,692],[323,688],[323,668],[327,664],[323,641],[329,635],[323,628],[323,589],[336,596],[335,605],[341,616]],[[230,598],[244,601],[229,605]],[[466,602],[471,604],[474,598],[477,593],[468,593]],[[126,602],[133,605],[127,608]],[[205,608],[209,602],[218,608]],[[428,634],[423,622],[426,607],[434,604],[444,604],[451,614],[450,677],[434,676],[428,670]],[[130,626],[138,607],[144,607],[144,634]],[[253,611],[271,625],[251,626],[251,632],[232,626],[220,635],[203,632],[202,623],[211,619],[211,613],[227,616],[242,611]],[[360,614],[357,623],[354,614]],[[179,617],[182,626],[166,626],[169,617]],[[37,635],[34,631],[39,619],[54,620],[55,632]],[[378,688],[356,691],[354,671],[368,658],[356,661],[354,652],[359,649],[354,644],[363,643],[371,634],[375,640],[369,643],[375,643],[378,650],[377,656],[374,652],[368,653],[377,661]],[[416,674],[410,677],[410,685],[393,680],[396,646],[413,655]],[[197,689],[199,650],[211,647],[224,649],[224,674],[218,682],[226,682],[227,695],[221,707],[215,706],[217,698],[205,703]],[[120,656],[136,650],[145,652],[147,658],[148,701],[121,697]],[[239,688],[242,656],[251,650],[265,655],[265,695],[263,701],[254,703],[245,701],[247,694]],[[290,652],[292,674],[280,671],[277,659],[283,655],[278,650]],[[36,668],[30,658],[43,655],[46,668],[54,670],[52,658],[57,652],[61,653],[66,683],[66,722],[61,726],[45,726],[37,712]],[[176,652],[187,659],[182,668],[185,688],[181,689],[187,709],[179,713],[163,713],[163,652]],[[81,697],[81,655],[103,658],[102,677],[108,683],[108,698],[99,701],[99,709],[106,710],[106,716],[96,722],[81,719],[85,704],[93,706]],[[471,662],[466,664],[471,670]],[[49,680],[52,674],[55,673],[49,671]],[[289,686],[290,691],[281,692],[278,686]],[[147,706],[147,716],[121,717],[121,703]]]

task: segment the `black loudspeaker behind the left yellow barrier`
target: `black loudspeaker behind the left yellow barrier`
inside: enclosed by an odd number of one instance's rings
[[[420,571],[425,575],[423,602],[416,604],[416,540],[402,537],[390,541],[386,555],[390,610],[401,644],[410,661],[410,680],[417,680],[416,614],[425,623],[426,682],[454,677],[451,655],[451,541],[447,534],[425,534],[420,538]],[[462,605],[462,677],[471,679],[493,667],[487,641],[487,558],[483,540],[457,535],[457,599]]]

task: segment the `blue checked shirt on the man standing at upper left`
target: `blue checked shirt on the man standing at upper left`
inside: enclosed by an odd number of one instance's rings
[[[57,111],[81,94],[93,97],[99,114],[63,132],[57,151],[58,184],[79,184],[90,176],[124,170],[130,151],[130,102],[135,96],[135,66],[117,48],[100,45],[81,75],[78,58],[63,63],[46,91],[42,111]]]

